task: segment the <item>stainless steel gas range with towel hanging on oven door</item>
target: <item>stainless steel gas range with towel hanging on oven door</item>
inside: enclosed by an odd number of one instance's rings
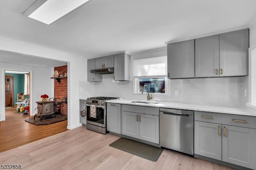
[[[106,134],[106,100],[116,97],[91,97],[86,100],[86,128]]]

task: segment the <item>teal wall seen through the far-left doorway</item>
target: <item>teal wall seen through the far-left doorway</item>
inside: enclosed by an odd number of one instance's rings
[[[13,75],[14,76],[14,105],[17,102],[17,94],[24,93],[24,74],[12,74],[12,73],[5,73],[5,75]]]

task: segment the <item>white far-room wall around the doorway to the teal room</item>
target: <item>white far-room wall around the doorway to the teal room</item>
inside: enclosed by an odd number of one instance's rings
[[[1,57],[1,56],[0,56]],[[30,71],[31,72],[31,94],[30,95],[30,115],[34,115],[37,111],[35,111],[37,105],[36,101],[41,101],[41,95],[47,94],[49,97],[53,94],[51,88],[52,86],[52,79],[50,79],[52,68],[50,67],[33,67],[33,66],[24,66],[24,65],[17,65],[17,64],[6,64],[0,63],[0,80],[4,82],[4,70],[15,70],[15,71]],[[0,83],[0,96],[1,101],[5,101],[5,87],[4,83]],[[4,102],[1,102],[1,105],[4,106]],[[2,112],[5,112],[5,107],[3,107]],[[1,120],[5,120],[5,114],[1,114]]]

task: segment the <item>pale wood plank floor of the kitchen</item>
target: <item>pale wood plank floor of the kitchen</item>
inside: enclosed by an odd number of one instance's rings
[[[167,150],[152,162],[108,146],[118,138],[78,127],[2,152],[0,162],[31,170],[232,170]]]

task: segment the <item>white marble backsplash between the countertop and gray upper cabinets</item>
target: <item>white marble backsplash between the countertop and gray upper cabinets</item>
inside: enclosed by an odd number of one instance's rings
[[[242,77],[168,79],[167,89],[169,95],[153,93],[153,100],[228,107],[242,107],[243,103]],[[133,80],[116,82],[112,74],[103,75],[102,82],[95,83],[95,96],[147,99],[146,95],[133,94]]]

